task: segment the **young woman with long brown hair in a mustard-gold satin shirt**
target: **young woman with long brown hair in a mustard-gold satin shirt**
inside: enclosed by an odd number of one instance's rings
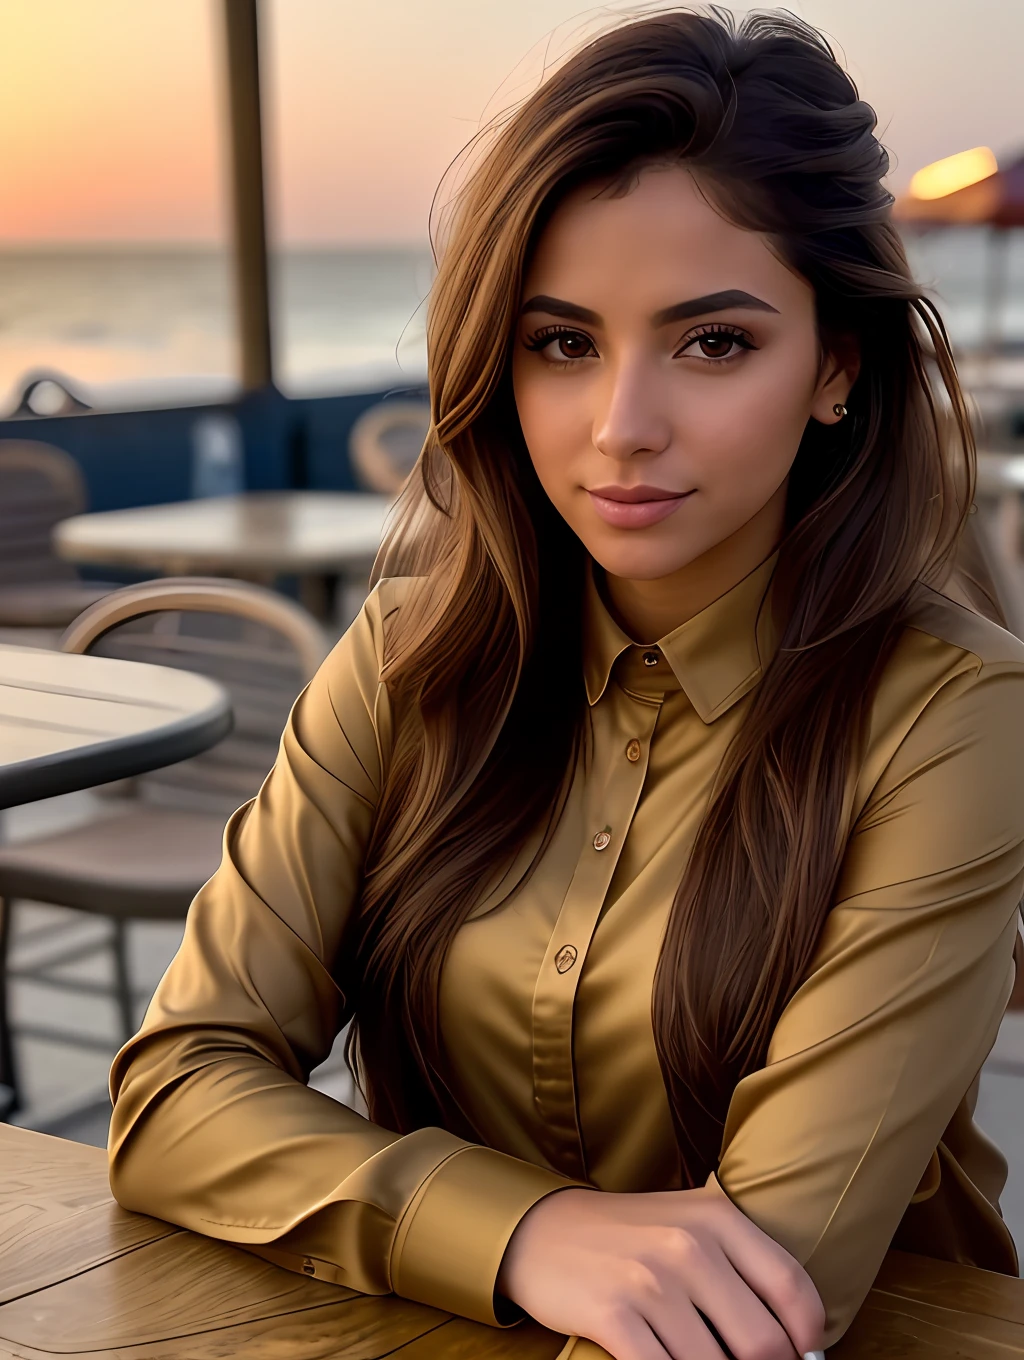
[[[1024,646],[874,116],[785,15],[581,50],[456,203],[366,608],[112,1073],[121,1204],[617,1360],[1016,1273],[971,1119]],[[340,1027],[370,1119],[306,1078]]]

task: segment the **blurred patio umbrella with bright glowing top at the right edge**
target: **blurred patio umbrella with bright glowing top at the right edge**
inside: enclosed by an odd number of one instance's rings
[[[945,184],[949,192],[941,192]],[[914,226],[989,227],[985,350],[991,354],[1006,292],[1009,230],[1024,227],[1024,155],[997,169],[987,147],[975,147],[926,166],[914,175],[910,193],[896,201],[893,214],[898,222]]]

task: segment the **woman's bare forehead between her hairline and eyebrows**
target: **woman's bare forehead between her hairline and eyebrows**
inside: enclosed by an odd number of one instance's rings
[[[806,303],[812,294],[770,238],[723,218],[684,166],[647,166],[617,197],[601,188],[582,185],[558,205],[528,264],[524,291],[583,303],[583,292],[626,288],[638,303],[664,306],[745,288],[776,307]]]

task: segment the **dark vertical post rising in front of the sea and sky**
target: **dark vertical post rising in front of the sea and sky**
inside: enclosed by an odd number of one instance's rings
[[[242,388],[254,392],[273,382],[257,0],[223,0],[223,10],[241,378]]]

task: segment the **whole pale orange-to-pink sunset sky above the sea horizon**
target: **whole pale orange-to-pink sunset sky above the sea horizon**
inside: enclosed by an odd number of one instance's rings
[[[264,0],[275,239],[423,241],[484,110],[536,84],[545,46],[639,8]],[[1024,151],[1020,0],[789,8],[828,33],[877,109],[896,190],[967,147]],[[0,0],[0,241],[223,238],[219,18],[220,0]]]

